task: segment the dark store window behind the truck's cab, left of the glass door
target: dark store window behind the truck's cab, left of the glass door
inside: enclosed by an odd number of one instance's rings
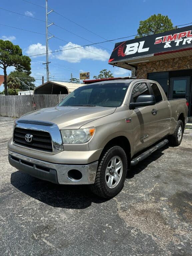
[[[168,96],[169,72],[148,73],[148,79],[158,82],[162,86],[166,96]]]

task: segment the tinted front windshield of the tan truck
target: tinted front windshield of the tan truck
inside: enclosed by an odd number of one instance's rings
[[[102,106],[122,105],[130,83],[98,83],[81,86],[71,92],[58,106]]]

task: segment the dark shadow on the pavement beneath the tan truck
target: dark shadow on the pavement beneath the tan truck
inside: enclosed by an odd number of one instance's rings
[[[165,147],[162,150],[164,149]],[[133,178],[162,155],[162,151],[158,150],[138,165],[131,167],[127,179]],[[107,201],[92,194],[88,185],[57,185],[20,171],[11,174],[11,184],[28,196],[53,207],[85,209],[92,202],[100,204]]]

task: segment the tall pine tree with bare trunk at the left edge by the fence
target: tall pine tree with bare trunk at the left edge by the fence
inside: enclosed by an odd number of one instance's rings
[[[5,95],[7,92],[7,67],[14,66],[18,71],[26,71],[30,74],[31,59],[22,54],[22,50],[18,45],[14,45],[10,41],[0,40],[0,68],[4,72]]]

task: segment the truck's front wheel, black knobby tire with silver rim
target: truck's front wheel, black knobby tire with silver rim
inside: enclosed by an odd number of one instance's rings
[[[101,156],[91,191],[100,197],[112,198],[122,190],[126,174],[126,153],[121,147],[113,146]]]

